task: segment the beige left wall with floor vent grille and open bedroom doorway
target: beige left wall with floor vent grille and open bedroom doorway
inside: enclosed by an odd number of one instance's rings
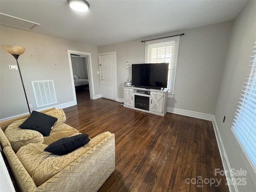
[[[31,85],[33,80],[54,80],[58,101],[54,105],[74,101],[67,50],[91,53],[94,91],[95,95],[100,94],[100,81],[97,74],[98,48],[96,46],[6,26],[1,26],[0,33],[1,45],[18,45],[25,48],[24,54],[19,57],[18,61],[28,101],[33,106],[31,110],[40,110],[40,108],[36,108]],[[0,119],[28,113],[19,73],[17,70],[8,68],[8,65],[15,65],[16,60],[2,47],[0,54]]]

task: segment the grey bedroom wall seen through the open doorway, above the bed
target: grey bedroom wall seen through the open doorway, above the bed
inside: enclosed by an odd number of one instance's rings
[[[87,62],[84,57],[71,57],[73,74],[88,79]]]

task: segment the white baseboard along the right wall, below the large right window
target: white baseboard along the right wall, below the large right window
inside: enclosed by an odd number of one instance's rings
[[[214,128],[214,133],[215,133],[215,137],[216,137],[216,140],[217,140],[218,149],[219,149],[219,152],[220,152],[220,158],[221,158],[221,161],[222,161],[222,166],[223,166],[224,170],[228,170],[228,172],[225,172],[225,176],[230,181],[232,179],[235,180],[234,176],[232,174],[230,174],[232,172],[231,166],[230,166],[230,163],[229,163],[229,160],[228,160],[228,156],[226,154],[225,147],[224,147],[223,142],[222,142],[222,138],[220,136],[220,132],[219,132],[219,129],[218,129],[218,126],[217,126],[215,116],[213,116],[212,125],[213,125],[213,128]],[[238,188],[237,188],[236,185],[229,184],[228,185],[228,190],[230,192],[238,192]]]

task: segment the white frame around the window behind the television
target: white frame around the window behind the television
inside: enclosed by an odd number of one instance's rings
[[[172,92],[170,90],[168,91],[168,98],[173,98],[174,96],[174,90],[175,90],[175,81],[176,81],[176,72],[177,72],[177,63],[178,63],[178,52],[179,52],[179,45],[180,45],[180,36],[175,36],[175,37],[170,37],[170,38],[164,38],[164,39],[158,39],[158,40],[151,40],[145,42],[145,63],[150,63],[148,62],[148,44],[160,44],[164,42],[170,42],[170,41],[175,41],[175,54],[174,54],[174,59],[173,62],[171,63],[172,66],[175,66],[175,71],[174,71],[174,77],[173,77],[173,83],[172,83]],[[170,69],[169,69],[170,70]],[[168,71],[168,74],[170,72]],[[171,76],[168,79],[168,82],[172,81]]]

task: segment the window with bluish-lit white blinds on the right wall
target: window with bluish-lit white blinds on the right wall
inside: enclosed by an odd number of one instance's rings
[[[256,42],[255,42],[256,44]],[[256,46],[248,81],[234,119],[232,131],[240,142],[244,153],[256,168]]]

